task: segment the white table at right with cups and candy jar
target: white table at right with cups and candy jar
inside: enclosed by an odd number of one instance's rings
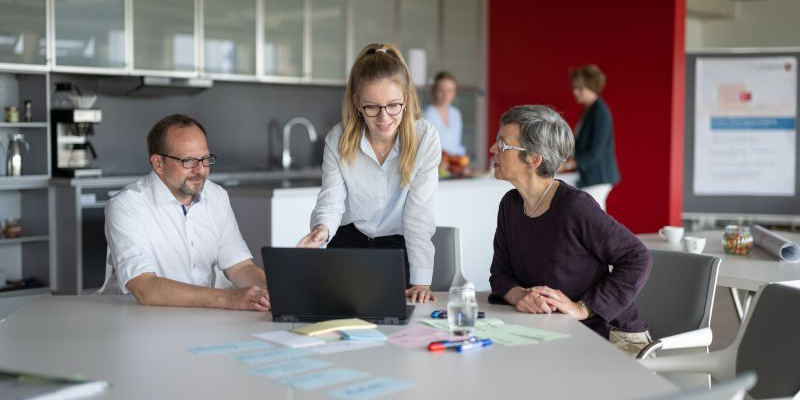
[[[800,241],[800,234],[778,232],[781,236],[795,243]],[[772,254],[759,246],[753,246],[748,255],[727,254],[722,249],[721,230],[690,232],[686,236],[706,238],[703,254],[719,257],[719,286],[731,289],[736,311],[742,318],[758,288],[774,282],[786,282],[800,279],[800,263],[778,261]],[[636,235],[650,249],[685,251],[683,241],[669,243],[657,233]],[[738,290],[737,290],[738,289]],[[740,293],[740,290],[742,293]],[[744,295],[744,298],[742,297]]]

